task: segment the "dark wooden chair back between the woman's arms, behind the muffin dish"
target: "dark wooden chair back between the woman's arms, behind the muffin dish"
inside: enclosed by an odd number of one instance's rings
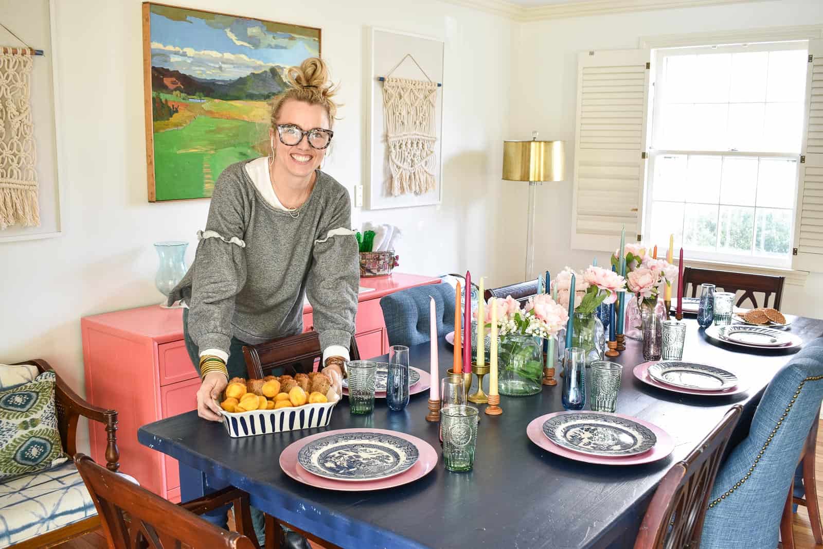
[[[319,334],[309,330],[258,345],[244,345],[243,356],[249,379],[261,379],[277,368],[282,368],[283,373],[289,375],[308,374],[314,370],[314,362],[323,357],[323,350],[320,348]],[[360,360],[354,336],[349,343],[349,359]]]

